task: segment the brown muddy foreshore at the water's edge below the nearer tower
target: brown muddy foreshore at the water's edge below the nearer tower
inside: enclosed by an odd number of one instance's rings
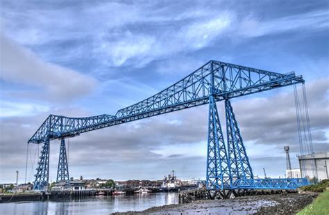
[[[198,200],[182,205],[151,207],[130,214],[296,214],[310,204],[317,193],[287,193],[264,196],[244,196],[227,200]]]

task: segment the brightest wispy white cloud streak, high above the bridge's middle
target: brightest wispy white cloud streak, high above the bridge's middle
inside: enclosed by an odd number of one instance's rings
[[[165,31],[133,33],[127,29],[103,33],[94,51],[110,58],[110,65],[125,63],[142,67],[159,58],[207,47],[225,33],[233,15],[223,12],[216,17],[189,22]]]

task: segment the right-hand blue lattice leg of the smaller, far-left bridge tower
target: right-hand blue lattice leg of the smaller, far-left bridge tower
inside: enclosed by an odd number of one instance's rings
[[[65,148],[65,139],[60,141],[60,158],[58,159],[57,180],[56,182],[69,183],[69,166],[67,165],[67,156]]]

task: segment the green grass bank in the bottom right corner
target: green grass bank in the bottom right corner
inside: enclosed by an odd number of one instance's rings
[[[329,190],[321,193],[310,205],[307,205],[297,215],[308,215],[308,214],[329,214]]]

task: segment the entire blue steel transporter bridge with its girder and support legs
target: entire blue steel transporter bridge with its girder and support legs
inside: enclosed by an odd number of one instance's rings
[[[52,140],[61,140],[57,182],[69,182],[65,138],[205,104],[209,105],[207,189],[219,191],[224,195],[226,191],[243,189],[296,189],[298,186],[306,185],[307,180],[254,178],[230,99],[304,82],[303,77],[297,76],[294,72],[281,74],[220,61],[209,61],[160,93],[119,109],[115,115],[103,114],[84,118],[50,115],[28,140],[28,143],[43,144],[34,189],[47,189],[49,143]],[[225,102],[227,144],[216,105],[219,101]]]

